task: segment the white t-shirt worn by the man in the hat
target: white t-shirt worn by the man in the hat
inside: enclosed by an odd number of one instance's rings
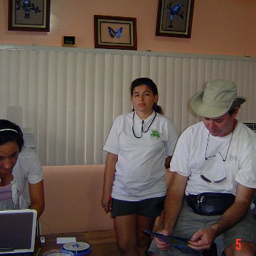
[[[248,188],[256,188],[255,132],[238,122],[232,139],[232,134],[226,137],[209,135],[208,141],[208,134],[208,129],[203,122],[199,122],[188,127],[178,139],[171,160],[171,171],[188,176],[186,195],[203,192],[235,195],[238,183]],[[205,159],[205,155],[208,160]],[[226,156],[226,161],[223,161]],[[203,181],[201,175],[210,181],[225,179],[220,183],[208,183]]]

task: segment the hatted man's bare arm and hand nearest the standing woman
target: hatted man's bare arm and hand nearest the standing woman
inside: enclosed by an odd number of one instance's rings
[[[188,177],[181,176],[176,172],[171,174],[171,182],[166,194],[164,203],[164,224],[159,233],[171,235],[174,230],[178,214],[181,212],[183,196],[186,188]],[[167,250],[169,245],[157,238],[154,238],[159,250]]]

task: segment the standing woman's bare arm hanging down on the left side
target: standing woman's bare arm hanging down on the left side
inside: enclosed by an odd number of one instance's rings
[[[117,154],[108,153],[107,161],[104,172],[104,183],[103,183],[103,194],[102,194],[102,207],[105,212],[111,211],[110,206],[110,196],[112,192],[112,186],[114,181],[115,165],[117,163]]]

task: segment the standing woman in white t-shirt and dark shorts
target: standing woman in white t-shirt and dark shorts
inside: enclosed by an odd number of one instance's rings
[[[158,91],[149,78],[132,82],[133,112],[114,120],[103,149],[108,152],[102,195],[105,212],[112,211],[122,256],[144,256],[156,217],[166,195],[169,168],[178,133],[157,105]],[[112,202],[110,203],[110,198]]]

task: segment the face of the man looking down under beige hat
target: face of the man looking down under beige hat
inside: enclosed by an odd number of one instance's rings
[[[214,137],[225,137],[233,132],[235,117],[238,114],[238,109],[235,109],[233,114],[223,114],[221,117],[209,118],[203,117],[203,123]]]

